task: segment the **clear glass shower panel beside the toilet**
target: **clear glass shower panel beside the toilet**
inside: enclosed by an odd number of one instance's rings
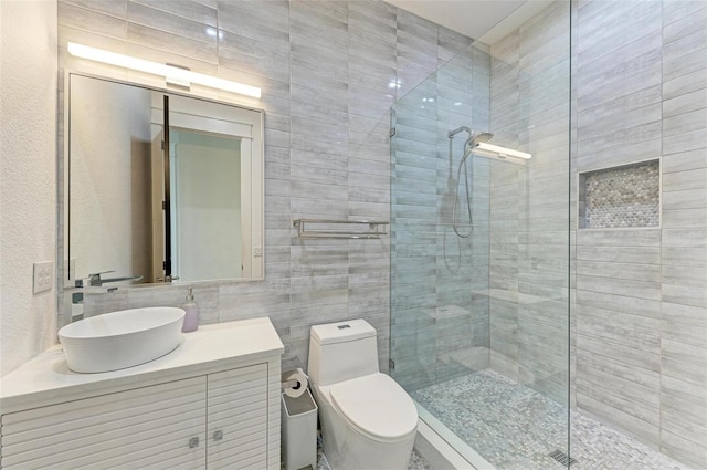
[[[393,106],[391,375],[478,468],[569,466],[569,31],[552,3]]]

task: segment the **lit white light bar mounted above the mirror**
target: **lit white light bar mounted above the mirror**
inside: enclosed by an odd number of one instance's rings
[[[123,55],[103,49],[91,48],[88,45],[68,43],[68,52],[72,55],[89,61],[102,62],[105,64],[117,65],[125,69],[136,70],[152,75],[163,76],[171,83],[186,84],[197,83],[199,85],[209,86],[211,88],[224,90],[226,92],[238,93],[240,95],[261,97],[261,88],[243,83],[231,82],[229,80],[219,79],[203,73],[192,72],[187,69],[180,69],[172,65],[160,64],[157,62],[145,61],[143,59]]]

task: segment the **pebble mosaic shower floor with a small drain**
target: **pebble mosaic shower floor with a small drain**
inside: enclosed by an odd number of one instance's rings
[[[560,470],[567,408],[483,370],[410,394],[497,470]],[[580,412],[571,414],[572,470],[692,470]]]

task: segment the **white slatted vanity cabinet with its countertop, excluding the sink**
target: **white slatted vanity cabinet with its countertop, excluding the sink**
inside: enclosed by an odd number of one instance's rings
[[[61,346],[2,378],[13,469],[279,469],[281,355],[268,318],[201,326],[150,363],[68,370]]]

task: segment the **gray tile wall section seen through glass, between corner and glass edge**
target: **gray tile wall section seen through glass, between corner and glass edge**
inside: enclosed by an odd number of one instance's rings
[[[490,366],[567,401],[569,4],[490,46],[492,143],[532,154],[490,165]]]

